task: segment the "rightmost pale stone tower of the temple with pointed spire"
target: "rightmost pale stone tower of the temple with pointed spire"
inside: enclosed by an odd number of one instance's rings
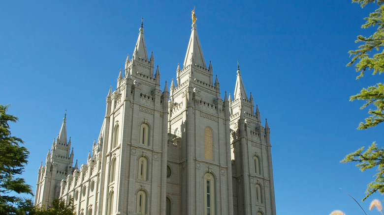
[[[229,96],[234,215],[275,215],[270,129],[260,120],[252,93],[248,98],[237,65],[233,100]]]

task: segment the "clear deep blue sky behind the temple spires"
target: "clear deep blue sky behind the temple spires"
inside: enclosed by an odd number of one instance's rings
[[[11,124],[31,154],[22,177],[35,189],[37,170],[60,131],[75,159],[86,162],[105,115],[105,97],[127,54],[132,55],[144,17],[148,53],[159,65],[161,88],[176,77],[191,34],[191,10],[207,63],[233,95],[237,60],[249,94],[271,128],[278,215],[361,215],[358,205],[374,170],[361,173],[345,155],[377,141],[384,124],[356,130],[367,117],[349,97],[382,76],[355,80],[346,67],[363,18],[351,0],[250,1],[0,1],[0,104],[19,117]],[[380,79],[381,78],[381,79]],[[168,85],[169,86],[169,85]],[[375,194],[362,203],[368,205]]]

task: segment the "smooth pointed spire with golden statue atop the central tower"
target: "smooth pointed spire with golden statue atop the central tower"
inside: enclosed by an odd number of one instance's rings
[[[193,13],[194,14],[194,13]],[[195,20],[194,20],[195,21]],[[192,61],[203,68],[207,68],[205,64],[203,51],[201,50],[199,36],[197,35],[196,23],[192,23],[190,42],[188,43],[187,54],[185,55],[183,68]],[[192,57],[193,53],[193,57]]]

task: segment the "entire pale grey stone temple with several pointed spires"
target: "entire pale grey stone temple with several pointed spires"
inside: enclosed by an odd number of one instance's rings
[[[78,215],[276,215],[261,121],[239,67],[233,96],[221,97],[195,23],[183,67],[161,90],[141,26],[87,163],[73,166],[64,117],[38,170],[35,205],[73,201]]]

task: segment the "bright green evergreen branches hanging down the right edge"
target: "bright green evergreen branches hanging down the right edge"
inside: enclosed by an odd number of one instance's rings
[[[357,50],[350,51],[353,55],[352,60],[347,66],[356,68],[359,75],[356,79],[364,76],[365,71],[371,70],[372,75],[382,74],[384,71],[384,0],[352,0],[352,2],[361,4],[361,7],[366,6],[368,3],[376,3],[378,9],[375,12],[370,13],[369,17],[366,17],[366,23],[362,25],[362,28],[377,27],[369,37],[357,36],[356,43],[362,42],[363,44],[358,47]],[[373,55],[371,55],[373,53]],[[376,109],[369,109],[370,116],[365,119],[365,123],[361,122],[358,129],[368,129],[370,127],[377,126],[384,121],[384,85],[383,83],[376,83],[373,86],[363,88],[360,93],[351,96],[353,100],[365,100],[365,104],[361,109],[368,106],[375,107]],[[361,171],[377,167],[378,173],[373,182],[367,186],[367,195],[363,198],[363,201],[372,193],[380,192],[384,193],[384,149],[379,149],[377,145],[372,145],[363,152],[364,147],[357,151],[347,155],[341,162],[357,162],[356,166]]]

